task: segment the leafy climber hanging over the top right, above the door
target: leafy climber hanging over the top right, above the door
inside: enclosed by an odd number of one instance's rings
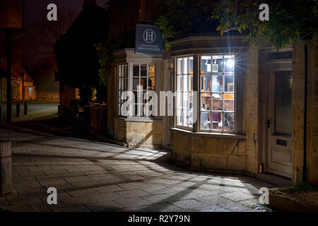
[[[259,20],[260,4],[269,5],[269,21]],[[222,35],[235,29],[254,45],[260,35],[276,49],[318,33],[318,0],[227,0],[212,15],[220,21],[217,29]]]

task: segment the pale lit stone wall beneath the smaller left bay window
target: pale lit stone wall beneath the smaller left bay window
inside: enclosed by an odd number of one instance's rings
[[[114,119],[114,138],[129,147],[160,147],[163,145],[162,121],[126,121]]]

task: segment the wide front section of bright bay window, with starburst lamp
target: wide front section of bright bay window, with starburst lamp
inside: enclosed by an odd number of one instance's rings
[[[200,129],[234,131],[235,56],[201,56]]]

